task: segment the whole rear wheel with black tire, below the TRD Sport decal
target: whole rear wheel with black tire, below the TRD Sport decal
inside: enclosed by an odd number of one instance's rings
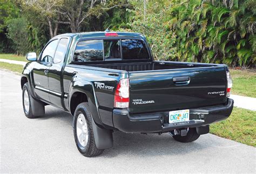
[[[80,103],[73,117],[73,132],[79,152],[86,157],[102,154],[103,149],[98,149],[92,130],[92,117],[87,102]]]

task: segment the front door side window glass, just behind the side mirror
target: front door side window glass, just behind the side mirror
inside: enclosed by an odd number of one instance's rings
[[[40,62],[51,62],[55,53],[58,39],[52,40],[44,49]]]

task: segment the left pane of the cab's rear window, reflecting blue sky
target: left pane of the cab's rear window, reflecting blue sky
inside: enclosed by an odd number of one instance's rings
[[[79,41],[76,46],[73,61],[103,61],[103,40]]]

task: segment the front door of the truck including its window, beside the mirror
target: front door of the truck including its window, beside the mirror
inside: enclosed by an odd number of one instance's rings
[[[50,101],[48,72],[52,64],[53,56],[57,47],[58,39],[50,41],[44,48],[38,62],[33,68],[33,80],[35,83],[35,93],[39,99]]]

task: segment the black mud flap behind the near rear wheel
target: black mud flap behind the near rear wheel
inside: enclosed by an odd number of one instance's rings
[[[92,129],[95,137],[96,147],[98,149],[109,149],[113,147],[112,130],[98,127],[93,119]]]

